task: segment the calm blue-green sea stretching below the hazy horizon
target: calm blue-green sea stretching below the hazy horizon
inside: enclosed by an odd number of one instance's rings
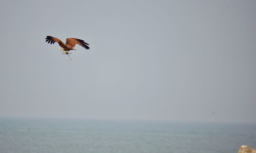
[[[238,152],[256,124],[0,118],[0,152]]]

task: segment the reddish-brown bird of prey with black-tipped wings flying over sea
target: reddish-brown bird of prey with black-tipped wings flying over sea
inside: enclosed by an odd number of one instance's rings
[[[59,50],[62,52],[65,52],[65,54],[69,54],[69,50],[76,50],[74,49],[76,44],[79,44],[80,46],[89,49],[90,47],[88,46],[89,44],[84,42],[81,39],[77,38],[67,38],[66,39],[66,44],[64,44],[61,40],[58,38],[52,37],[52,36],[46,36],[46,42],[54,44],[54,42],[59,43]]]

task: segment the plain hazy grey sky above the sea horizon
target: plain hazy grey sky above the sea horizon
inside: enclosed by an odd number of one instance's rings
[[[0,1],[0,117],[256,122],[255,8]],[[70,64],[47,35],[91,48]]]

